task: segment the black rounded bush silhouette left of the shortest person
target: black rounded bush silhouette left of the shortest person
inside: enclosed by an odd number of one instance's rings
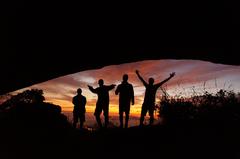
[[[65,128],[69,123],[61,107],[44,102],[43,91],[26,90],[0,105],[1,126],[17,128]]]

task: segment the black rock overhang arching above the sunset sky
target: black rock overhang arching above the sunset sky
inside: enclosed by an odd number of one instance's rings
[[[2,16],[0,94],[147,59],[240,64],[239,21],[231,7],[70,6],[25,1]]]

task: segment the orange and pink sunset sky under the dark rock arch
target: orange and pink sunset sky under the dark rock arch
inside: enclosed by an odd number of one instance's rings
[[[136,69],[140,71],[146,81],[149,77],[153,77],[155,83],[169,77],[171,72],[176,72],[176,76],[163,85],[171,96],[190,96],[193,94],[193,89],[197,94],[201,94],[204,92],[204,88],[212,93],[221,88],[240,92],[240,66],[214,64],[199,60],[149,60],[111,65],[62,76],[17,92],[29,88],[42,89],[47,102],[60,105],[63,111],[72,111],[71,100],[76,95],[77,88],[80,87],[83,95],[87,97],[87,112],[93,112],[97,95],[91,93],[87,85],[96,88],[100,78],[106,85],[120,84],[122,75],[127,73],[129,83],[133,84],[135,91],[135,105],[131,108],[131,114],[139,115],[145,88],[135,74]],[[110,91],[111,114],[118,113],[118,96],[114,94],[114,91],[115,89]],[[157,97],[160,95],[161,90],[159,89]]]

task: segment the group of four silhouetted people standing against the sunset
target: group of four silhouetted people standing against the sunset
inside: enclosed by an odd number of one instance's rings
[[[142,103],[141,116],[140,116],[140,124],[139,126],[143,126],[145,116],[148,113],[150,116],[149,124],[152,125],[154,121],[154,109],[155,109],[155,98],[156,92],[160,86],[169,81],[172,77],[175,76],[175,72],[170,73],[169,77],[165,80],[154,84],[154,79],[149,78],[148,83],[143,79],[140,75],[140,72],[136,70],[136,75],[139,80],[143,83],[145,87],[145,96],[144,101]],[[89,90],[92,93],[97,94],[98,99],[96,102],[96,108],[94,112],[94,116],[96,118],[97,124],[100,128],[107,128],[109,124],[109,91],[115,88],[115,84],[104,85],[104,80],[98,80],[99,87],[93,88],[88,85]],[[134,105],[134,89],[132,84],[128,82],[128,75],[124,74],[121,84],[119,84],[115,90],[115,94],[119,95],[119,121],[120,128],[128,127],[129,113],[131,104]],[[83,128],[85,122],[85,112],[86,112],[86,97],[82,95],[81,88],[77,89],[77,95],[73,97],[72,103],[74,105],[73,109],[73,127],[76,128],[76,124],[78,120],[80,120],[80,129]],[[103,112],[104,115],[104,125],[101,122],[101,114]],[[125,124],[123,124],[123,116],[125,113]]]

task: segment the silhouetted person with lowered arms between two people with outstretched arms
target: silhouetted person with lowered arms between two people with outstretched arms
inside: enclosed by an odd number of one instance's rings
[[[132,84],[128,83],[128,75],[123,75],[123,81],[118,85],[115,94],[119,94],[119,120],[120,127],[123,127],[123,113],[125,112],[125,128],[128,127],[130,103],[134,105],[134,91]]]

